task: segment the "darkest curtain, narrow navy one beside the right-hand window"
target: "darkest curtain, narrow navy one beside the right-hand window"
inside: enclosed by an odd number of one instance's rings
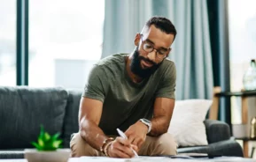
[[[229,74],[229,1],[207,0],[210,25],[213,86],[220,86],[221,91],[230,91]],[[230,98],[221,98],[219,120],[231,125]]]

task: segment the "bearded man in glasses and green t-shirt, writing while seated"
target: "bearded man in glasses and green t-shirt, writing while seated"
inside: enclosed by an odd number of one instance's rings
[[[150,18],[136,34],[131,55],[111,55],[91,70],[81,98],[80,131],[70,143],[73,157],[176,154],[175,140],[167,134],[176,80],[175,63],[167,56],[175,35],[170,20]]]

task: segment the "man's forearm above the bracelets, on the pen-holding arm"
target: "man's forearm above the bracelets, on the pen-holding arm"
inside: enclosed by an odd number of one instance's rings
[[[100,150],[108,136],[105,136],[102,129],[100,129],[95,122],[83,119],[80,123],[81,137],[93,148]]]

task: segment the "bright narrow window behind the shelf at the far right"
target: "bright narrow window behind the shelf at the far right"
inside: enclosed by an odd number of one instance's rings
[[[243,88],[244,72],[256,59],[256,1],[229,1],[229,52],[231,91]],[[232,98],[232,122],[241,122],[241,99]]]

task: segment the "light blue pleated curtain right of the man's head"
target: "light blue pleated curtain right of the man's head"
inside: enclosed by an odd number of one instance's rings
[[[170,58],[177,69],[177,99],[212,99],[213,65],[206,0],[172,0],[177,29]]]

